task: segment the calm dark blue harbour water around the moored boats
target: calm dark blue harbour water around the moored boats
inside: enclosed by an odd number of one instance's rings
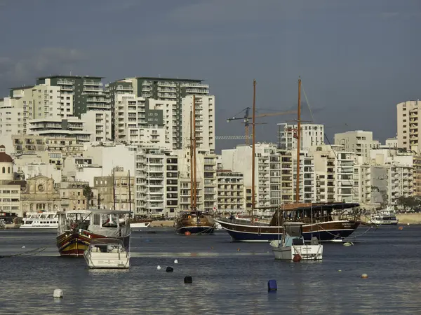
[[[2,230],[0,255],[46,250],[0,258],[0,314],[421,314],[420,235],[417,225],[379,228],[355,246],[325,244],[323,262],[293,263],[274,260],[269,244],[232,243],[222,231],[141,231],[133,232],[131,269],[112,271],[58,256],[55,232]],[[269,279],[276,293],[267,293]],[[64,298],[53,299],[55,288]]]

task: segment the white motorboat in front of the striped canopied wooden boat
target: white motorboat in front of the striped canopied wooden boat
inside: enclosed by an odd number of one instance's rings
[[[128,269],[130,254],[120,239],[93,239],[83,257],[91,269]]]

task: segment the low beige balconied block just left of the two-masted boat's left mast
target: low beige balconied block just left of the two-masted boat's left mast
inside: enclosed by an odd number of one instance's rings
[[[218,211],[241,211],[244,210],[244,176],[230,170],[218,169],[216,172],[218,182]]]

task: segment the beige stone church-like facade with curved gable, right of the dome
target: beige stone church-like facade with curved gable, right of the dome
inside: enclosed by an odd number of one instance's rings
[[[27,180],[21,193],[22,212],[58,211],[61,206],[60,194],[54,187],[54,180],[38,175]]]

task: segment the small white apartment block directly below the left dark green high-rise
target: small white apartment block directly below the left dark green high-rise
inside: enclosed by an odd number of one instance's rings
[[[81,114],[83,131],[91,134],[89,141],[105,142],[111,139],[111,111],[88,111]]]

